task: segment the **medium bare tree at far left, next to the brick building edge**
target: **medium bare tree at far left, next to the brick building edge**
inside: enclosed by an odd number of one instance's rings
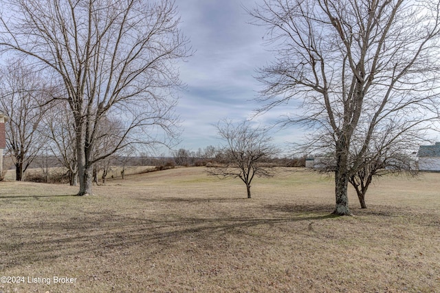
[[[39,129],[44,113],[41,102],[50,89],[21,61],[7,63],[0,76],[0,111],[10,118],[6,124],[7,147],[14,159],[16,180],[21,181],[45,144]]]

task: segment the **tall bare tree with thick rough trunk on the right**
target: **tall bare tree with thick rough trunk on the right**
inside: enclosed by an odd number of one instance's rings
[[[390,123],[401,133],[423,129],[439,117],[438,1],[265,0],[249,12],[277,46],[274,63],[260,70],[260,111],[303,100],[302,113],[282,122],[304,122],[314,144],[332,150],[334,213],[351,215],[349,179],[374,135]]]

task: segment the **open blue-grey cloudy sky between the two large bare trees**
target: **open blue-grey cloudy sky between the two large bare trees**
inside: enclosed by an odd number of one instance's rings
[[[219,140],[212,124],[222,118],[240,122],[259,107],[254,98],[261,84],[255,70],[270,62],[272,54],[263,45],[264,28],[250,25],[243,6],[253,8],[254,0],[176,0],[181,30],[188,36],[194,56],[180,67],[187,90],[180,93],[177,112],[184,133],[179,147],[196,151]],[[270,126],[281,114],[270,111],[254,119]],[[274,133],[274,142],[284,147],[300,136],[298,130]]]

